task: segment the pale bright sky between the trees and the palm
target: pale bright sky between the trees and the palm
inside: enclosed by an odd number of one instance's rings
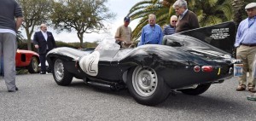
[[[110,12],[115,13],[115,19],[109,23],[111,28],[109,30],[109,34],[98,34],[98,33],[84,33],[84,42],[94,42],[96,40],[102,40],[105,37],[114,37],[114,33],[116,29],[124,24],[125,15],[128,14],[129,10],[132,6],[138,3],[138,0],[108,0],[107,6],[110,9]],[[131,30],[133,30],[137,26],[137,21],[131,21],[130,26]],[[39,31],[38,28],[36,31]],[[76,32],[61,32],[57,34],[54,29],[48,28],[49,32],[53,33],[56,41],[61,41],[65,43],[73,43],[73,42],[80,42],[79,37],[77,36]]]

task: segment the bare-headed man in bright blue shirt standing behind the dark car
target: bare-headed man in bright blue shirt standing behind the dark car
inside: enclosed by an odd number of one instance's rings
[[[148,15],[148,25],[143,26],[141,42],[138,46],[143,44],[161,44],[163,39],[163,32],[158,24],[155,24],[156,17],[154,14]]]

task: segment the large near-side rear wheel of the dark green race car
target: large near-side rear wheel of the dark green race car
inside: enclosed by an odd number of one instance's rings
[[[137,66],[128,72],[127,88],[140,104],[154,106],[165,101],[169,88],[163,78],[150,67]]]

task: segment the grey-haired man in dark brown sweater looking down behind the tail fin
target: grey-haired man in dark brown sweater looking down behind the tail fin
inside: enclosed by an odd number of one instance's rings
[[[175,32],[184,32],[191,29],[199,28],[197,16],[187,7],[185,0],[177,0],[172,7],[178,15]]]

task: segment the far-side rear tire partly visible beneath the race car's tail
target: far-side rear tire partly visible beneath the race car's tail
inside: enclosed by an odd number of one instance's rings
[[[201,95],[209,89],[211,84],[200,84],[195,89],[181,89],[180,91],[186,95]]]

